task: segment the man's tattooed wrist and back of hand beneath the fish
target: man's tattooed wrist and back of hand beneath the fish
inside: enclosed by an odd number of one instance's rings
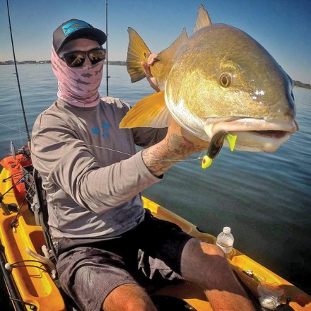
[[[195,147],[192,141],[182,136],[172,134],[160,143],[151,146],[142,152],[143,162],[153,175],[160,176],[168,170],[176,161],[184,160],[194,153]]]

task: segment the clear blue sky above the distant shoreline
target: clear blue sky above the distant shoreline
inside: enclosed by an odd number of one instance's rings
[[[212,23],[245,31],[293,78],[311,83],[310,0],[107,0],[109,60],[127,59],[127,28],[134,28],[152,52],[160,52],[186,28],[194,28],[201,4]],[[106,30],[105,0],[10,0],[16,59],[50,58],[52,33],[71,18]],[[106,31],[105,31],[106,32]],[[0,61],[13,59],[6,0],[0,0]]]

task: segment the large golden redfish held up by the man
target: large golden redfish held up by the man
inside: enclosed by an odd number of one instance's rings
[[[135,30],[128,32],[127,69],[136,82],[151,52]],[[120,127],[167,127],[173,117],[206,141],[229,133],[238,150],[270,152],[298,129],[288,74],[250,35],[212,25],[203,6],[192,35],[183,30],[157,59],[151,72],[164,91],[134,105]]]

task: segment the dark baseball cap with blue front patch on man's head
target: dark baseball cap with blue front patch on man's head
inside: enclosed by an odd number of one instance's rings
[[[107,36],[102,30],[94,28],[83,20],[71,19],[62,23],[59,28],[54,31],[54,49],[56,52],[59,52],[61,47],[67,42],[83,37],[95,39],[100,45],[103,45],[107,40]]]

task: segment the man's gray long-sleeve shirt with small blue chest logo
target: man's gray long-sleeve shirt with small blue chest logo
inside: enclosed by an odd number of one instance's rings
[[[54,240],[115,237],[143,219],[139,193],[160,179],[135,144],[151,146],[167,129],[119,129],[128,110],[117,98],[90,108],[58,100],[37,117],[32,159],[47,191]]]

